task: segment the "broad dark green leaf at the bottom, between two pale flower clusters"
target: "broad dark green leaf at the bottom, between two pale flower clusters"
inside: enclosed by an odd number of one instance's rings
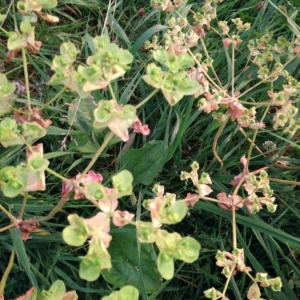
[[[136,228],[128,225],[112,230],[112,242],[108,248],[112,268],[103,270],[106,281],[117,287],[132,285],[140,292],[143,287],[148,293],[157,291],[161,285],[157,272],[156,255],[151,244],[141,244],[140,260],[138,255]]]

